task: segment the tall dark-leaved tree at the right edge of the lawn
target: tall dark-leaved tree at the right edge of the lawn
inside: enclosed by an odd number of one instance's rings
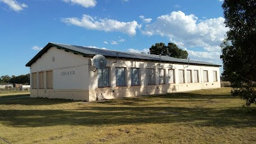
[[[230,79],[232,94],[256,103],[256,1],[225,0],[222,4],[227,39],[221,44],[223,76]]]

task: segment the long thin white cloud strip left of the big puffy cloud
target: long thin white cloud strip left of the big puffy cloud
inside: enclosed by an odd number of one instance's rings
[[[83,15],[82,19],[72,17],[63,18],[61,20],[67,24],[81,26],[86,29],[93,29],[98,31],[118,31],[129,36],[136,35],[136,29],[139,26],[138,22],[135,20],[132,22],[120,22],[113,19],[97,19],[91,17],[90,15]]]

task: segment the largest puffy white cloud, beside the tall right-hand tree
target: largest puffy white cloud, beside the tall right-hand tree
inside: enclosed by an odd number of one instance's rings
[[[147,24],[142,33],[144,35],[168,36],[170,42],[186,47],[211,47],[219,46],[225,38],[228,28],[223,23],[224,18],[198,20],[191,14],[178,11],[168,15],[161,15],[152,24]]]

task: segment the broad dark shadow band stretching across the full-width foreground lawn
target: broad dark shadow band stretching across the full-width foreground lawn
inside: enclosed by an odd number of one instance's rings
[[[253,108],[93,107],[66,110],[0,110],[0,121],[15,127],[180,123],[213,127],[256,127]]]

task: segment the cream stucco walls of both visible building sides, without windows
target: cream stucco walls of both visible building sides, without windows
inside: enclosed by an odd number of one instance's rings
[[[53,58],[54,57],[54,58]],[[200,65],[182,65],[175,63],[160,63],[158,61],[135,61],[118,58],[108,58],[107,67],[110,68],[109,83],[106,88],[98,88],[97,69],[92,66],[92,57],[86,58],[73,52],[52,47],[41,58],[31,65],[33,72],[52,70],[53,88],[31,89],[31,97],[48,97],[74,100],[96,100],[97,95],[104,95],[106,99],[119,97],[133,97],[140,95],[154,95],[158,93],[183,92],[204,88],[220,88],[220,68]],[[115,68],[126,68],[126,86],[116,86]],[[140,68],[140,86],[131,86],[131,68]],[[156,70],[156,84],[147,85],[147,68]],[[165,71],[164,84],[159,84],[158,69]],[[168,83],[168,70],[174,69],[175,83]],[[179,70],[184,70],[185,83],[179,83]],[[198,83],[186,83],[186,70],[198,70]],[[203,71],[208,70],[209,81],[203,82]],[[213,70],[217,71],[218,81],[213,81]],[[193,73],[192,73],[193,76]],[[45,80],[46,81],[46,80]]]

